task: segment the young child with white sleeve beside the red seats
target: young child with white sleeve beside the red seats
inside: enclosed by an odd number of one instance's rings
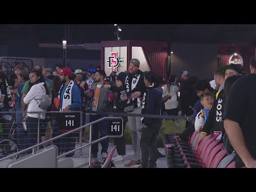
[[[206,92],[206,93],[203,93],[200,98],[201,98],[201,104],[204,106],[204,109],[199,111],[199,113],[196,115],[195,130],[198,132],[204,126],[204,123],[206,121],[205,116],[207,117],[206,113],[209,113],[209,110],[207,110],[206,112],[205,109],[210,109],[212,107],[213,94],[211,92]]]

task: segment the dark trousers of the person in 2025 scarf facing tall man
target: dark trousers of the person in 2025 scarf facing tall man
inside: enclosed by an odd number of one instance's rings
[[[141,147],[141,166],[148,166],[148,158],[150,151],[149,167],[156,166],[157,161],[157,137],[161,128],[161,124],[150,124],[142,129],[140,147]]]

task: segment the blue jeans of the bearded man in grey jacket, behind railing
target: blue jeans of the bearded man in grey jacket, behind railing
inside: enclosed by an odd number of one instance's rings
[[[90,114],[90,122],[96,121],[102,117],[105,117],[103,115],[91,115]],[[99,123],[92,125],[92,141],[95,141],[99,139],[99,131],[100,131],[100,138],[105,137],[108,135],[108,127],[107,127],[107,121],[101,121]],[[101,143],[101,153],[107,153],[108,150],[108,139],[105,139],[100,142]],[[97,155],[99,151],[98,143],[95,143],[92,145],[92,154]]]

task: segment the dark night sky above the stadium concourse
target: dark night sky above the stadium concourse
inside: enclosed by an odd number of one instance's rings
[[[174,43],[223,43],[256,45],[256,25],[122,25],[123,40],[170,41]],[[0,25],[0,44],[13,42],[61,44],[65,34],[68,43],[100,43],[114,41],[116,27],[102,25]]]

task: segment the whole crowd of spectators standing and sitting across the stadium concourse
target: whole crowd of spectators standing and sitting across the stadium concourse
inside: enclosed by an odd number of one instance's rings
[[[250,60],[251,73],[245,75],[243,66],[231,63],[218,68],[214,73],[214,83],[208,79],[198,79],[188,71],[182,71],[181,79],[171,75],[167,82],[154,71],[141,71],[140,61],[131,59],[129,70],[116,74],[113,70],[109,76],[104,70],[87,73],[82,69],[74,72],[57,65],[51,68],[34,66],[28,73],[21,65],[15,67],[7,76],[0,71],[0,110],[23,111],[15,113],[17,121],[17,142],[19,150],[37,143],[38,114],[41,141],[45,141],[46,127],[51,123],[52,137],[60,132],[57,114],[48,111],[83,111],[90,114],[90,122],[108,116],[109,111],[126,113],[126,123],[131,129],[133,158],[125,166],[157,167],[158,157],[164,157],[157,150],[157,138],[161,129],[161,118],[143,117],[146,115],[187,116],[186,129],[179,139],[186,140],[195,130],[200,132],[199,142],[206,135],[213,134],[224,142],[227,153],[236,151],[236,166],[256,167],[255,142],[253,139],[253,109],[255,104],[256,81],[255,58]],[[10,73],[10,71],[8,71]],[[43,95],[50,95],[52,105],[44,110],[40,107]],[[97,112],[106,112],[97,113]],[[23,116],[22,116],[23,114]],[[129,116],[137,114],[141,116]],[[193,122],[194,120],[194,122]],[[175,121],[175,119],[172,119]],[[23,124],[26,124],[27,130]],[[83,129],[84,132],[84,129]],[[100,134],[99,134],[100,133]],[[107,121],[93,124],[92,141],[108,134]],[[74,135],[54,141],[59,154],[74,149]],[[117,156],[114,162],[124,161],[125,139],[115,138]],[[101,141],[101,157],[108,155],[108,140]],[[45,147],[45,146],[44,146]],[[92,145],[92,157],[97,158],[98,143]],[[27,153],[31,153],[28,151]],[[67,156],[72,156],[69,154]]]

